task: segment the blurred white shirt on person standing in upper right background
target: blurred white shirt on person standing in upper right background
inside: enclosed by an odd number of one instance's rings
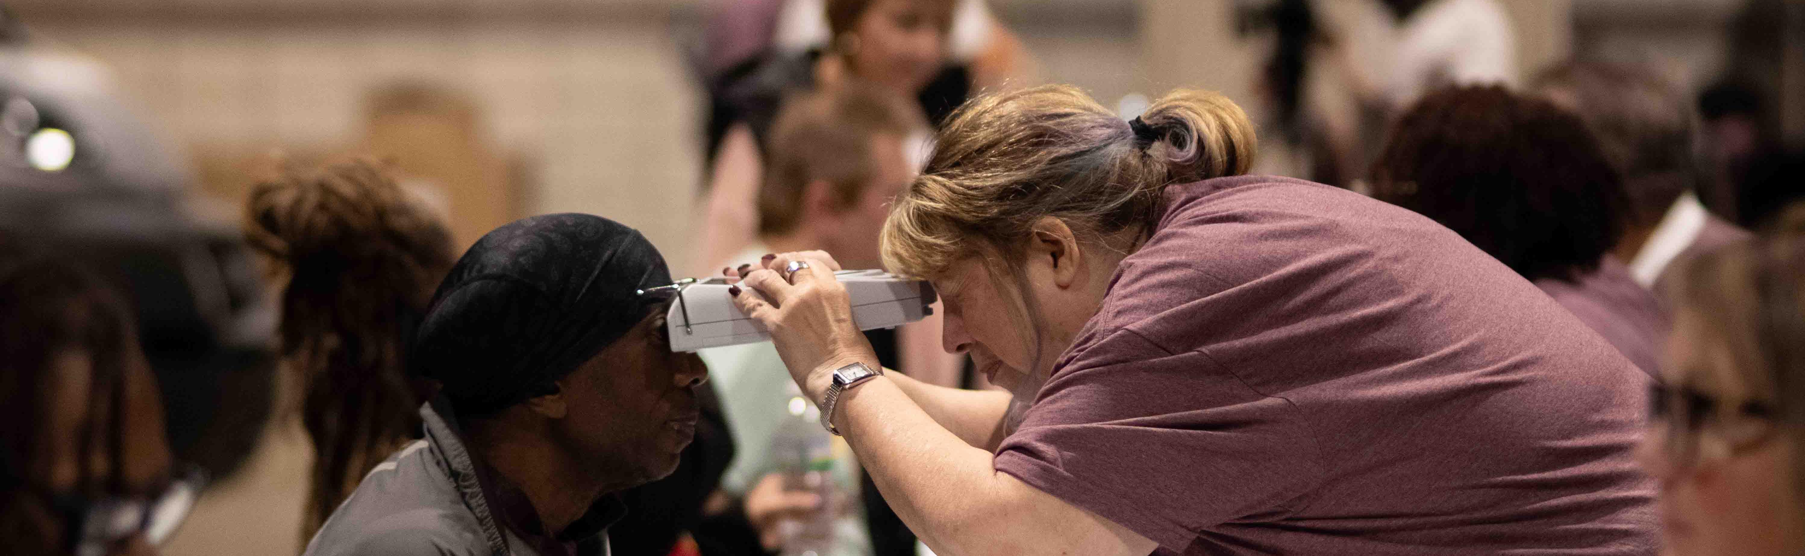
[[[1446,85],[1516,87],[1516,32],[1496,0],[1435,0],[1402,23],[1386,87],[1392,107]]]

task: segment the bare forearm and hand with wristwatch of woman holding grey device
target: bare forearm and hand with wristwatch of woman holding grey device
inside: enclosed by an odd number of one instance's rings
[[[845,287],[830,258],[780,255],[747,274],[735,303],[773,334],[791,375],[810,399],[827,392],[832,370],[877,365],[852,323]],[[791,283],[774,269],[809,262]],[[782,309],[780,309],[782,307]],[[890,507],[940,554],[1121,554],[1143,556],[1155,543],[1058,496],[998,473],[987,449],[946,430],[881,375],[841,394],[830,415],[870,471]]]

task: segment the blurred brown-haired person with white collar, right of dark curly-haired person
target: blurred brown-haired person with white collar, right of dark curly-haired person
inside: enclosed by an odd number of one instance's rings
[[[1612,253],[1637,283],[1661,292],[1671,262],[1749,236],[1699,202],[1693,114],[1671,83],[1643,67],[1567,61],[1531,87],[1579,116],[1623,179],[1630,204]]]

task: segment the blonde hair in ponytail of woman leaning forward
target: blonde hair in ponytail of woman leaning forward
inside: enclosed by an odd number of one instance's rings
[[[1253,162],[1253,123],[1220,94],[1173,90],[1141,121],[1137,135],[1069,85],[966,103],[890,209],[884,267],[926,278],[978,253],[1013,258],[1045,217],[1083,238],[1146,233],[1166,186],[1240,175]]]

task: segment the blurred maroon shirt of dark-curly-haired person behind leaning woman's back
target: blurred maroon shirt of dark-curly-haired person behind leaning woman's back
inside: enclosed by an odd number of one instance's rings
[[[1574,282],[1541,278],[1536,287],[1567,307],[1592,332],[1610,341],[1619,354],[1648,372],[1661,375],[1661,343],[1668,338],[1668,314],[1648,291],[1630,276],[1630,267],[1605,255],[1597,271]]]

